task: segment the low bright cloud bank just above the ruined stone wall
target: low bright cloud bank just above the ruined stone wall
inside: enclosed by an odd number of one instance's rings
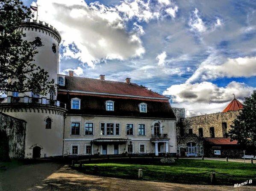
[[[253,87],[244,83],[231,82],[226,87],[218,87],[210,82],[184,83],[173,85],[163,92],[170,95],[174,103],[223,103],[232,100],[233,95],[243,100],[253,91]]]

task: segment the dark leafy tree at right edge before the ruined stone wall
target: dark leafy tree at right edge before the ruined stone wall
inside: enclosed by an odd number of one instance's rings
[[[231,140],[237,140],[246,150],[256,150],[256,91],[244,98],[244,108],[234,120],[230,132]]]

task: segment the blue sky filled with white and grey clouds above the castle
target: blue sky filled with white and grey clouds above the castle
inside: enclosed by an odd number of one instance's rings
[[[60,74],[132,83],[186,117],[256,89],[256,0],[23,0],[61,34]]]

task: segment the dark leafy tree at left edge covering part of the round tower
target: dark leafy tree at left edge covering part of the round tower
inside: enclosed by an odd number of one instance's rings
[[[36,50],[34,42],[25,37],[17,27],[30,19],[30,9],[20,0],[0,0],[0,91],[24,93],[32,91],[45,95],[54,88],[54,80],[49,80],[47,71],[36,66],[33,61]]]

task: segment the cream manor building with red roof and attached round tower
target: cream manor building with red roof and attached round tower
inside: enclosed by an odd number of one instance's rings
[[[130,78],[115,82],[104,75],[92,79],[76,77],[73,71],[68,76],[58,74],[59,32],[35,20],[22,23],[18,30],[37,45],[35,64],[57,83],[46,96],[14,91],[0,100],[0,112],[26,123],[24,143],[19,144],[23,147],[15,148],[23,153],[21,157],[176,155],[176,117],[169,97],[131,83]],[[6,134],[9,145],[20,141],[14,137]]]

